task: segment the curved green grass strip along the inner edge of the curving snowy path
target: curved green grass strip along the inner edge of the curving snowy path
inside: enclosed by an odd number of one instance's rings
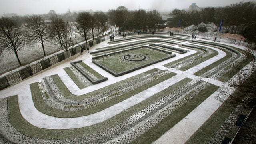
[[[143,90],[146,90],[164,80],[167,80],[168,78],[171,78],[174,75],[176,75],[176,74],[170,73],[170,74],[163,76],[157,80],[154,80],[154,82],[150,82],[150,83],[140,86],[134,90],[130,90],[129,92],[126,92],[125,94],[122,94],[116,98],[108,100],[102,104],[98,104],[96,106],[86,108],[83,110],[76,110],[76,112],[50,108],[50,106],[44,104],[43,99],[40,98],[42,96],[41,96],[40,90],[38,88],[38,84],[34,83],[34,84],[30,84],[30,86],[31,86],[31,94],[32,94],[33,101],[35,103],[36,108],[40,112],[50,115],[50,116],[59,117],[59,118],[73,118],[73,117],[79,117],[79,116],[86,116],[86,115],[93,114],[93,113],[99,112],[101,110],[104,110],[110,106],[113,106],[114,104],[117,104],[118,102],[121,102],[127,98],[130,98],[131,96],[134,96],[135,94],[138,94],[139,92],[142,92]]]

